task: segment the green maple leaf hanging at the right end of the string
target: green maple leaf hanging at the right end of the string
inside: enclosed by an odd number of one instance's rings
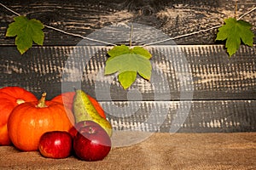
[[[226,40],[225,47],[231,55],[236,54],[236,50],[240,47],[241,41],[253,47],[253,31],[252,25],[244,20],[236,20],[228,18],[224,20],[225,25],[218,28],[216,40]]]

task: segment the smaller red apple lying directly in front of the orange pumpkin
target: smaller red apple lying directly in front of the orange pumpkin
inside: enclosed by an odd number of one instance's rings
[[[65,158],[70,156],[73,139],[65,131],[51,131],[44,133],[38,144],[38,149],[44,157]]]

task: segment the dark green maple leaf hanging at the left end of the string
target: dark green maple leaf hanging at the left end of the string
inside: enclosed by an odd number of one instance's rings
[[[28,20],[26,16],[15,17],[15,22],[9,24],[6,37],[16,37],[15,45],[20,54],[24,54],[28,48],[32,47],[32,42],[43,45],[44,25],[39,20]]]

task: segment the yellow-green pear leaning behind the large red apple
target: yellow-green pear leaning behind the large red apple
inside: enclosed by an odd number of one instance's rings
[[[87,94],[83,90],[76,90],[75,97],[73,99],[73,113],[76,119],[76,122],[81,121],[94,121],[101,125],[108,135],[112,135],[112,126],[108,120],[104,119],[96,111],[95,107],[90,102]]]

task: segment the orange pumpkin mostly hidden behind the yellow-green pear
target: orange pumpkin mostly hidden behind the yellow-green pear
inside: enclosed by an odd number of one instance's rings
[[[60,95],[55,96],[55,98],[51,99],[51,101],[60,102],[61,104],[65,105],[68,109],[73,111],[73,98],[75,96],[75,92],[66,92]],[[100,116],[106,119],[106,115],[102,106],[97,102],[96,99],[92,98],[89,94],[87,94],[90,102],[95,107],[96,111],[99,113]]]

